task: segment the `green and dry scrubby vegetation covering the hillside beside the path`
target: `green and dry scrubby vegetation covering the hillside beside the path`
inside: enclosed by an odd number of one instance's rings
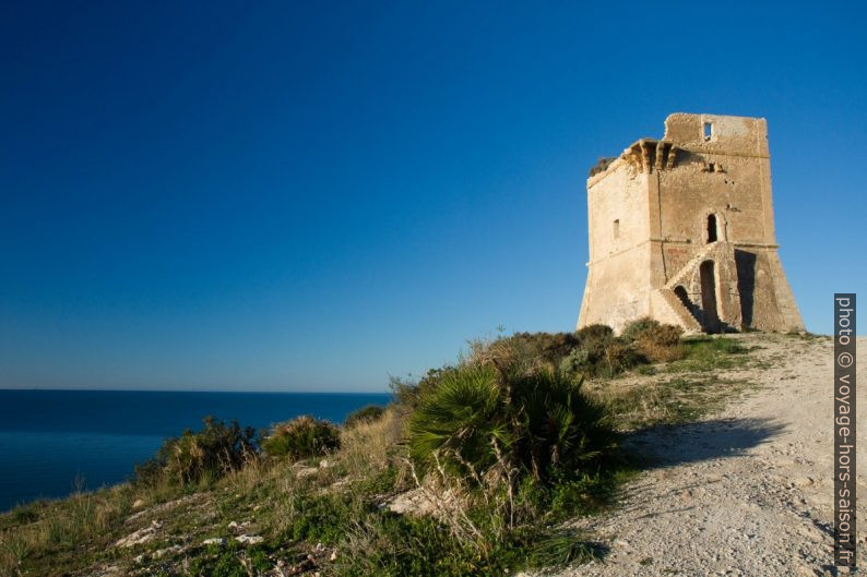
[[[129,483],[0,515],[0,575],[501,576],[586,561],[604,548],[565,521],[633,474],[625,432],[696,418],[734,387],[708,371],[744,359],[735,340],[650,320],[473,341],[342,428],[300,417],[257,435],[207,419]]]

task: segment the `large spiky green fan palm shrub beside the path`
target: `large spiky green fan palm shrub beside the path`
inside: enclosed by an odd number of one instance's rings
[[[421,470],[439,462],[480,477],[497,466],[545,481],[555,469],[579,471],[613,448],[604,420],[581,383],[558,372],[464,365],[420,399],[409,418],[409,454]]]

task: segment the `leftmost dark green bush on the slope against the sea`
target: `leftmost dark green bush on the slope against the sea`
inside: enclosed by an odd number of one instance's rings
[[[179,437],[167,438],[154,458],[135,467],[135,481],[147,485],[213,481],[258,457],[252,428],[241,429],[237,421],[227,426],[213,417],[203,422],[201,431],[187,430]]]

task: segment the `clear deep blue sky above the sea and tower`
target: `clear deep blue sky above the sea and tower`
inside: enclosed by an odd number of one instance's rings
[[[867,10],[732,5],[3,2],[0,387],[382,390],[570,330],[587,170],[675,111],[768,119],[830,332],[867,285]]]

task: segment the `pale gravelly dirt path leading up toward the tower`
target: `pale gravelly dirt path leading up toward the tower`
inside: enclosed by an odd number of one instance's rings
[[[762,385],[698,423],[634,443],[660,465],[620,506],[582,521],[610,548],[572,576],[836,575],[833,563],[831,339],[744,337],[768,369],[738,372]],[[857,401],[867,407],[867,338],[858,338]],[[858,517],[867,503],[867,431],[859,431]],[[865,534],[864,529],[859,531]],[[859,538],[858,565],[865,567]],[[841,573],[842,574],[842,573]]]

